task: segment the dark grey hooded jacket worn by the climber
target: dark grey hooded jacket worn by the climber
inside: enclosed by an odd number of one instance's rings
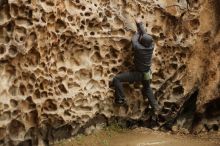
[[[145,32],[143,23],[137,23],[137,28],[137,33],[132,37],[134,64],[137,71],[147,72],[154,50],[153,38]]]

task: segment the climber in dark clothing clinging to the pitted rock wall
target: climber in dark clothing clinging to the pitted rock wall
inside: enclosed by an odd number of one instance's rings
[[[159,112],[160,106],[150,87],[152,78],[150,67],[154,50],[153,38],[145,32],[143,23],[140,19],[136,19],[135,22],[137,32],[132,37],[135,71],[124,72],[113,78],[113,85],[115,87],[115,103],[118,105],[123,105],[125,103],[125,95],[121,82],[142,82],[142,95],[144,100],[146,101],[147,97],[154,111]]]

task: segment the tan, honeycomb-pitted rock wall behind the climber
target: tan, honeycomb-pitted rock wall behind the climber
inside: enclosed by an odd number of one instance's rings
[[[0,142],[41,145],[103,118],[142,117],[148,104],[139,84],[125,84],[127,106],[112,104],[112,78],[133,69],[136,17],[143,18],[156,44],[152,88],[163,106],[159,123],[195,96],[196,131],[218,130],[218,5],[215,0],[0,0]]]

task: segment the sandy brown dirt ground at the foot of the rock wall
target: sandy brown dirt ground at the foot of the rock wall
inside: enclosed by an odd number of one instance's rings
[[[220,133],[194,136],[146,128],[101,130],[88,136],[62,140],[53,146],[220,146]]]

